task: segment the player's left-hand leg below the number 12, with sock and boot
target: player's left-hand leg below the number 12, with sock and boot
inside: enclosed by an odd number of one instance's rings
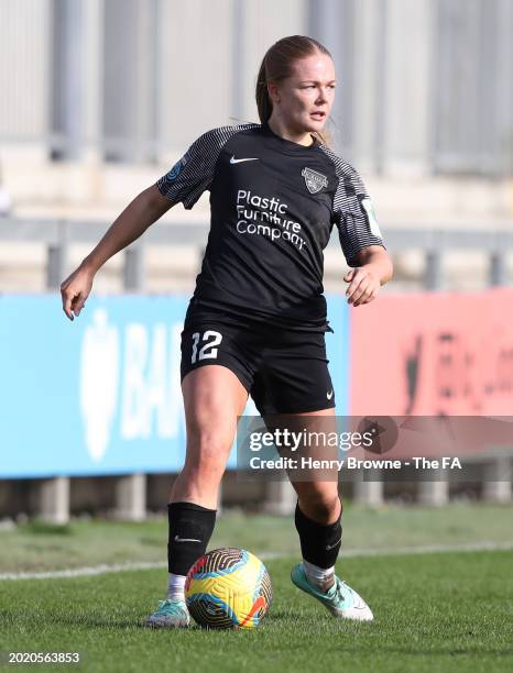
[[[167,597],[148,626],[182,627],[189,622],[185,577],[205,553],[214,531],[219,485],[233,443],[237,417],[248,391],[226,366],[204,365],[182,382],[187,432],[186,457],[168,505]]]

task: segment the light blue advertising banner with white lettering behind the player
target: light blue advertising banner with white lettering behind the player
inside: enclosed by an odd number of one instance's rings
[[[337,413],[348,412],[349,329],[327,297]],[[92,296],[78,319],[57,295],[0,297],[0,478],[177,472],[188,297]],[[251,398],[245,415],[258,415]],[[236,461],[234,449],[229,466]]]

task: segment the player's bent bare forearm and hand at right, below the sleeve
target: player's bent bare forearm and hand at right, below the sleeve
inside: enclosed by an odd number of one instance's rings
[[[368,245],[357,253],[359,266],[345,276],[349,286],[346,290],[348,304],[369,304],[378,296],[382,285],[392,278],[393,265],[389,253],[381,245]]]

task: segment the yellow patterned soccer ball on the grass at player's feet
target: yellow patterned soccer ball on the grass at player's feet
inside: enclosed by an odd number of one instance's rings
[[[214,629],[254,629],[272,599],[265,565],[244,549],[209,551],[196,561],[185,581],[190,615],[200,626]]]

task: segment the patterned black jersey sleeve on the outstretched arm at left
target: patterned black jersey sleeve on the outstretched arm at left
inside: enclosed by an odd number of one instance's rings
[[[252,124],[220,126],[200,135],[184,156],[163,175],[156,186],[173,203],[182,202],[190,210],[201,194],[210,189],[217,159],[232,135]]]

